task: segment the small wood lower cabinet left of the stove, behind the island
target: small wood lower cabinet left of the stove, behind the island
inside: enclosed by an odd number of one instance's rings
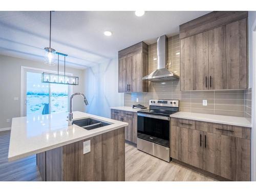
[[[137,113],[111,109],[111,119],[128,123],[125,126],[125,140],[137,143]]]

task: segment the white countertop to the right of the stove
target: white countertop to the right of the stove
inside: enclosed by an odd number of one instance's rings
[[[245,118],[245,117],[211,115],[211,114],[190,113],[190,112],[178,112],[178,113],[174,113],[174,114],[170,115],[170,117],[251,127],[250,119]]]

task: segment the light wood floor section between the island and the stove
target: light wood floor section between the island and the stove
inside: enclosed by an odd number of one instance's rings
[[[174,162],[166,162],[125,143],[125,181],[214,181]]]

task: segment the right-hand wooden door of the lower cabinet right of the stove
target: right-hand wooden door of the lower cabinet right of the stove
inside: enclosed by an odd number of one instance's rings
[[[233,181],[250,180],[250,140],[204,133],[203,169]]]

